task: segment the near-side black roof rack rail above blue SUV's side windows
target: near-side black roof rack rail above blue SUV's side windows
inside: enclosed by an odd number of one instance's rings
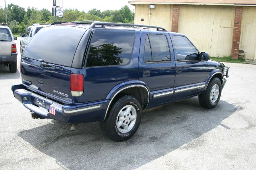
[[[111,22],[94,22],[91,24],[90,28],[105,28],[105,26],[130,26],[130,27],[156,28],[156,31],[167,32],[166,29],[158,26],[145,26],[145,25],[139,25],[139,24],[122,24],[122,23],[111,23]]]

